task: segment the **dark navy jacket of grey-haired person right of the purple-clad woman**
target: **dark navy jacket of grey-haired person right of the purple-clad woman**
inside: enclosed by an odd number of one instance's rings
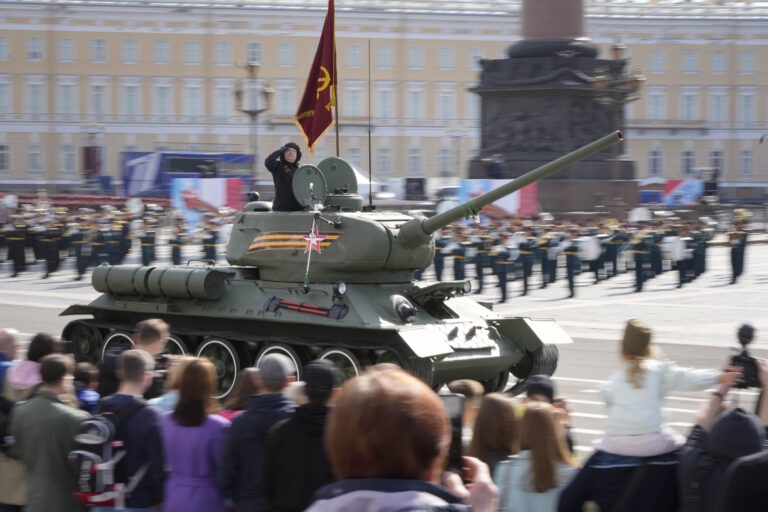
[[[281,394],[253,395],[232,421],[219,464],[219,488],[243,512],[266,510],[261,495],[261,466],[267,431],[293,414],[296,405]]]

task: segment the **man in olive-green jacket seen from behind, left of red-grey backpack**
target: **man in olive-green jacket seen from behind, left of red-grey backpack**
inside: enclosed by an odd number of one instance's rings
[[[42,385],[26,402],[19,403],[11,415],[10,434],[15,443],[11,454],[26,469],[27,512],[76,512],[85,507],[72,494],[75,480],[67,462],[74,446],[73,435],[90,415],[64,405],[66,379],[71,362],[61,354],[42,359]]]

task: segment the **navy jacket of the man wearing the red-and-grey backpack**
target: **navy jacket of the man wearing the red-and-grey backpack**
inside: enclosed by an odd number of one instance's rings
[[[136,400],[129,395],[111,395],[99,404],[99,411],[117,412]],[[145,462],[149,469],[126,500],[126,507],[148,508],[163,501],[165,468],[163,466],[162,418],[154,407],[133,413],[122,427],[125,457],[118,465],[125,478],[133,476]]]

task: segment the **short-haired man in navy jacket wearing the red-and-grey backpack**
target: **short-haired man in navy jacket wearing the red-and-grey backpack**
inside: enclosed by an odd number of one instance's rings
[[[141,398],[152,384],[154,367],[154,359],[144,350],[126,350],[120,354],[117,392],[99,405],[98,412],[115,423],[115,439],[124,445],[125,455],[115,468],[115,482],[128,484],[132,477],[143,473],[125,500],[125,510],[129,511],[159,509],[163,502],[161,415]],[[94,510],[114,509],[97,507]]]

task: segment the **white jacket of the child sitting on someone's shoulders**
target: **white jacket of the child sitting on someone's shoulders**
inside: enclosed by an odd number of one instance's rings
[[[646,359],[643,385],[635,389],[627,382],[630,364],[613,374],[600,390],[608,412],[605,431],[609,435],[632,436],[661,431],[664,396],[670,391],[699,391],[717,383],[717,370],[681,368],[671,361]]]

